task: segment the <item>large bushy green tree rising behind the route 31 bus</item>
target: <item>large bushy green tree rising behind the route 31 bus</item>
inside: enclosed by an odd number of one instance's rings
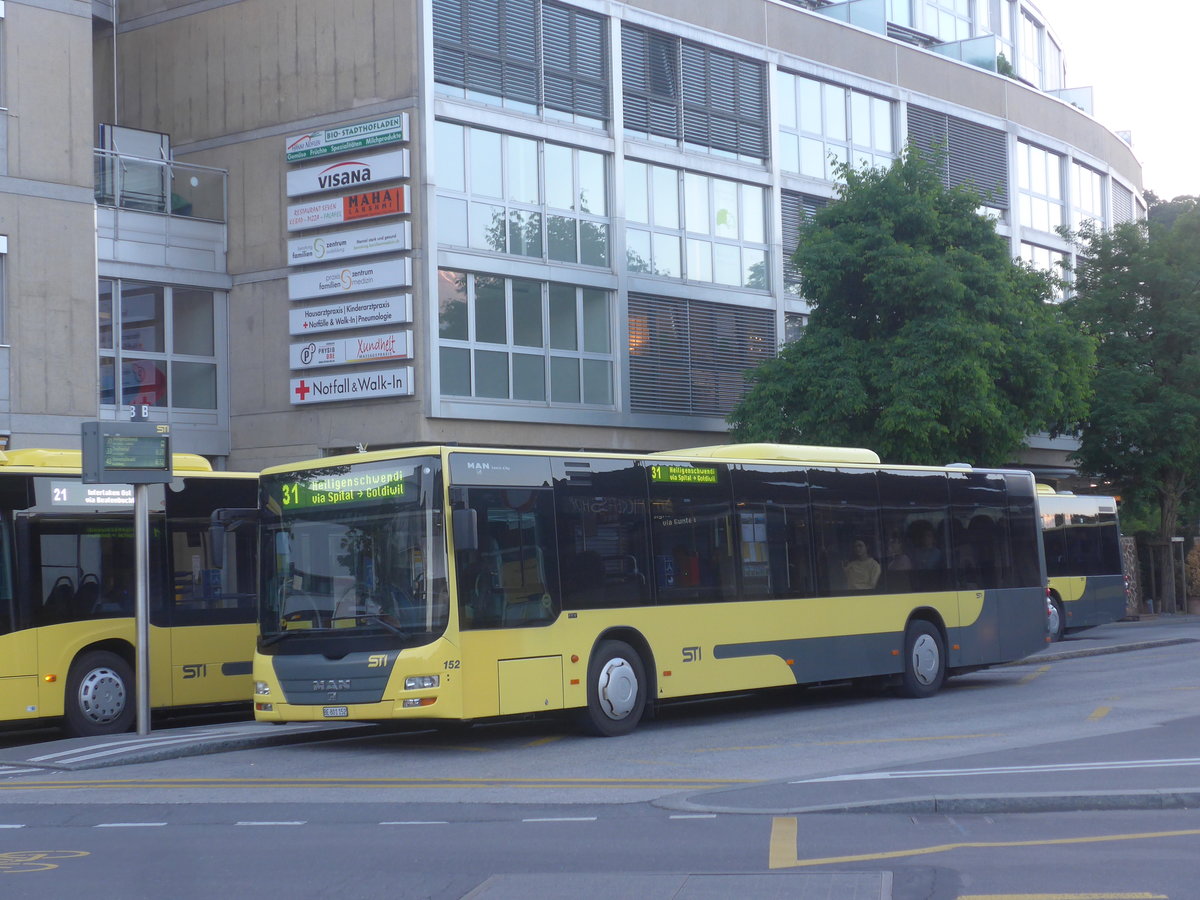
[[[997,464],[1078,420],[1091,342],[1049,302],[1056,280],[1013,260],[979,194],[947,188],[914,151],[841,178],[793,257],[809,324],[749,373],[733,437]]]

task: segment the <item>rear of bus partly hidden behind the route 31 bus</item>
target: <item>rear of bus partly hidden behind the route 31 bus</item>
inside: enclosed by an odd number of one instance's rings
[[[1115,497],[1055,492],[1038,485],[1045,542],[1051,641],[1127,613],[1129,580],[1121,556]]]

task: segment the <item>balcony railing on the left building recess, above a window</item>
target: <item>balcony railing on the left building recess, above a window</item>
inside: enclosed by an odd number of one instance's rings
[[[94,150],[96,203],[167,216],[226,221],[229,173],[206,166]]]

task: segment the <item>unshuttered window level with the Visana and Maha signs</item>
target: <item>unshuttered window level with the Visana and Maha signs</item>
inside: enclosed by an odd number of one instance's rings
[[[610,266],[604,154],[437,124],[438,242]]]

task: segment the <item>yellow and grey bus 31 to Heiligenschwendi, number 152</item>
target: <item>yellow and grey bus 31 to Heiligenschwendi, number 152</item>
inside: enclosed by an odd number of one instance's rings
[[[260,475],[254,715],[442,720],[948,674],[1045,646],[1034,482],[869,450],[414,446]]]

